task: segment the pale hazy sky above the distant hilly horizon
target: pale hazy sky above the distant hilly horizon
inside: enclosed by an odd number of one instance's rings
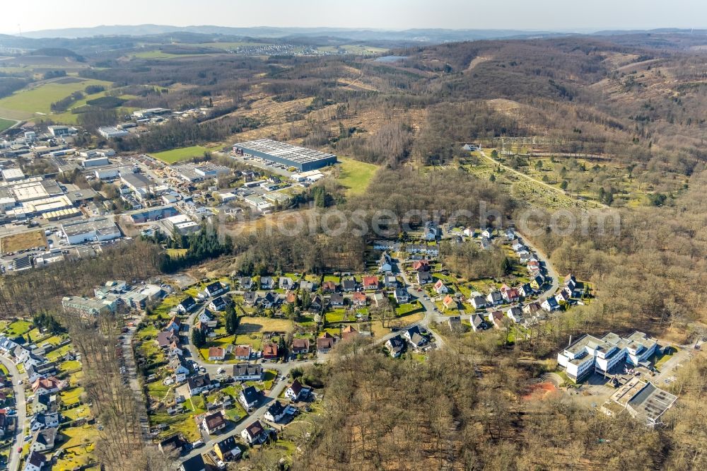
[[[705,28],[706,0],[28,0],[0,33],[96,25],[595,30]]]

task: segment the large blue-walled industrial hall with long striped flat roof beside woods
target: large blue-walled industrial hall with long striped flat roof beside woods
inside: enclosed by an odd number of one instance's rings
[[[233,145],[233,152],[240,156],[262,158],[264,161],[281,163],[294,167],[300,172],[315,170],[337,163],[337,156],[331,153],[293,146],[272,139],[241,142]]]

